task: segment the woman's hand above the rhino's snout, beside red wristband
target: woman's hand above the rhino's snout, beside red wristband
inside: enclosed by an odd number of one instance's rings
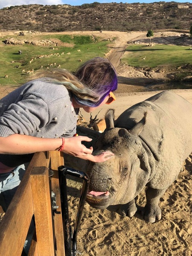
[[[64,150],[62,152],[76,157],[85,157],[93,153],[93,147],[86,148],[82,141],[90,142],[92,139],[86,136],[65,138]]]

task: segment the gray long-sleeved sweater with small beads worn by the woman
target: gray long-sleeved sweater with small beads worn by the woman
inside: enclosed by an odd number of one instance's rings
[[[72,97],[64,85],[35,79],[0,100],[0,137],[72,137],[78,113],[79,109],[72,109]],[[15,167],[29,162],[32,156],[0,154],[0,162]]]

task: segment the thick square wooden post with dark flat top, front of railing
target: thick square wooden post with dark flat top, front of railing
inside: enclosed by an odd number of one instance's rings
[[[39,256],[54,256],[52,209],[47,167],[33,167],[32,198]]]

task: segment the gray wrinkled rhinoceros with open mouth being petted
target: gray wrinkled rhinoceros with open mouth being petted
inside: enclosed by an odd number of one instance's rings
[[[159,200],[179,174],[192,152],[192,105],[172,91],[163,91],[124,111],[113,122],[106,113],[107,129],[96,142],[96,151],[115,155],[104,163],[90,163],[87,202],[97,208],[113,206],[122,216],[137,211],[135,197],[147,186],[145,221],[160,220]]]

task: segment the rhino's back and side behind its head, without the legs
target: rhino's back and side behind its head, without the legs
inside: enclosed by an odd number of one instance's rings
[[[145,112],[146,122],[139,137],[151,153],[151,166],[156,166],[153,185],[157,186],[160,177],[161,181],[170,178],[166,182],[172,182],[192,152],[192,105],[172,91],[163,91],[128,108],[118,117],[115,127],[129,130]],[[169,177],[163,177],[167,172]]]

